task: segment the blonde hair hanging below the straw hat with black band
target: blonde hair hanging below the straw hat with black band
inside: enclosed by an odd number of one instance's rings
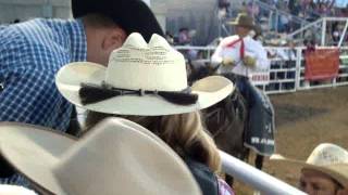
[[[86,126],[91,127],[111,116],[90,112]],[[207,165],[212,171],[221,170],[217,147],[207,133],[199,112],[166,116],[120,116],[149,129],[169,144],[179,156],[189,156]]]

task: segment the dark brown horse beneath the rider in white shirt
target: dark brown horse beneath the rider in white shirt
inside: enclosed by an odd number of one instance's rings
[[[194,82],[209,75],[214,75],[217,68],[201,66],[195,68],[188,63],[189,82]],[[226,75],[235,83],[233,75]],[[245,132],[248,128],[248,104],[239,90],[229,94],[220,103],[202,110],[207,129],[211,132],[217,147],[241,160],[248,160],[250,150],[244,145]],[[257,155],[256,167],[262,169],[263,156]],[[226,177],[228,183],[233,182]]]

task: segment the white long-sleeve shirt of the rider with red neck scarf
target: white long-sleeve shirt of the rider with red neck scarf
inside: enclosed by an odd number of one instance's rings
[[[243,58],[240,57],[241,41],[236,42],[232,47],[227,47],[228,44],[237,41],[238,39],[239,36],[237,35],[226,37],[217,46],[211,58],[212,66],[216,67],[219,64],[222,63],[223,58],[232,58],[236,63],[236,66],[220,66],[217,69],[219,74],[234,73],[236,75],[248,77],[249,74],[251,74],[252,72],[266,69],[270,67],[270,61],[268,60],[265,49],[259,41],[253,40],[249,36],[243,39],[245,44],[245,56],[254,57],[257,63],[254,69],[245,66],[243,63]]]

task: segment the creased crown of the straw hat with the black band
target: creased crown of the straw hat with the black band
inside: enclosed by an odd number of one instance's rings
[[[140,34],[132,34],[111,53],[105,82],[130,90],[182,91],[187,88],[185,58],[161,36],[147,43]]]

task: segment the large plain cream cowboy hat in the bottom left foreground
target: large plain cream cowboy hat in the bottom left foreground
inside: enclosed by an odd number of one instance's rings
[[[0,123],[1,155],[44,192],[59,195],[201,194],[185,162],[129,120],[109,118],[79,140]]]

